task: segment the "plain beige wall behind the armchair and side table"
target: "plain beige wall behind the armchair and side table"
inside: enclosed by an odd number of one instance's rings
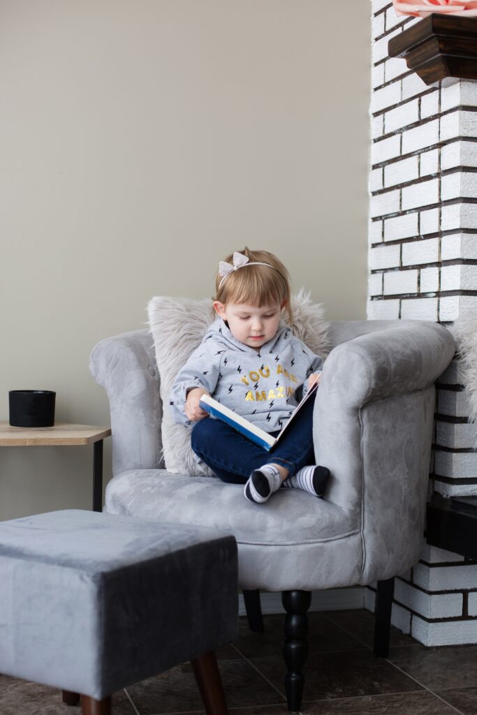
[[[108,424],[93,345],[245,243],[365,316],[368,5],[1,1],[0,419],[36,388]],[[0,518],[89,508],[91,459],[1,449]]]

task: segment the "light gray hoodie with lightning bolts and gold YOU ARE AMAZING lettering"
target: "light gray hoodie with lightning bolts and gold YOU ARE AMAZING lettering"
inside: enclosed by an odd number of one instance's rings
[[[184,410],[187,392],[205,388],[257,427],[275,432],[285,426],[305,394],[306,378],[322,367],[323,359],[295,337],[284,320],[257,352],[236,340],[218,317],[177,374],[169,408],[177,423],[192,425]]]

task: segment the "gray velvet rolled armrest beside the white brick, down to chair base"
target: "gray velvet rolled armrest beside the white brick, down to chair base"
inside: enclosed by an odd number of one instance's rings
[[[332,475],[328,500],[360,531],[361,583],[401,573],[418,560],[433,383],[454,350],[445,327],[396,321],[338,345],[325,360],[313,415],[315,457]]]

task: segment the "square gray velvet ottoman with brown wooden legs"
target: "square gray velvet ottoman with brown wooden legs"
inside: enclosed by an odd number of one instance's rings
[[[0,523],[0,672],[82,694],[84,713],[187,660],[226,711],[214,650],[236,634],[233,536],[76,510]]]

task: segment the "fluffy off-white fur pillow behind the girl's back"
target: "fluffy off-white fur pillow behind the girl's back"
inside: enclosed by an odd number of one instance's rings
[[[303,340],[310,350],[328,355],[329,323],[324,320],[324,308],[320,303],[312,303],[310,292],[302,288],[292,296],[294,335]],[[195,348],[200,345],[209,325],[215,320],[210,298],[192,300],[157,296],[147,305],[149,328],[154,340],[157,368],[160,378],[160,395],[164,405],[162,418],[162,453],[166,469],[173,474],[191,476],[211,476],[212,471],[197,463],[190,447],[190,430],[177,425],[170,410],[169,393],[174,379],[182,365]]]

